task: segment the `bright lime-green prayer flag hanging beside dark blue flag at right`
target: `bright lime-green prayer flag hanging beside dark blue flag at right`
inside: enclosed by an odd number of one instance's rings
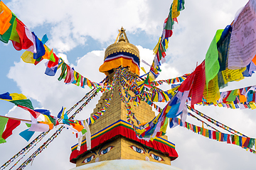
[[[211,79],[213,79],[219,72],[220,64],[218,62],[218,49],[217,42],[220,40],[222,30],[217,30],[215,36],[210,42],[210,47],[206,52],[206,88],[208,89],[208,83]]]

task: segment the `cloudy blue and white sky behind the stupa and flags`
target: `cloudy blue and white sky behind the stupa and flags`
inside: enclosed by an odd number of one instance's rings
[[[171,1],[67,1],[67,0],[3,0],[16,16],[34,31],[38,38],[48,35],[47,45],[65,59],[80,74],[92,81],[101,81],[104,74],[98,71],[104,52],[117,37],[121,26],[127,31],[129,42],[137,45],[141,59],[151,64],[152,49],[161,36],[164,19],[169,13]],[[195,0],[185,1],[185,10],[178,16],[174,35],[170,38],[167,62],[162,65],[159,79],[170,79],[193,72],[206,55],[215,31],[225,28],[247,0]],[[12,44],[0,43],[0,94],[22,93],[33,102],[34,108],[46,108],[57,115],[62,106],[72,107],[90,89],[73,84],[65,85],[55,77],[48,77],[44,62],[37,66],[21,61],[24,51],[18,52]],[[141,64],[149,70],[145,64]],[[229,84],[223,90],[255,85],[255,77]],[[163,86],[170,89],[170,86]],[[92,113],[100,95],[77,115],[86,119]],[[29,119],[28,112],[14,104],[0,101],[1,115]],[[256,137],[256,115],[252,110],[232,110],[214,106],[197,107],[199,111],[238,130],[249,137]],[[201,125],[188,118],[189,123]],[[18,135],[26,129],[23,123],[14,135],[0,145],[0,166],[25,147],[28,142]],[[54,130],[52,130],[54,132]],[[51,132],[51,134],[53,133]],[[36,132],[36,135],[39,133]],[[34,135],[34,137],[36,137]],[[235,145],[216,142],[182,127],[167,131],[169,140],[176,144],[178,159],[171,162],[181,169],[254,169],[255,155]],[[47,140],[47,135],[43,141]],[[29,164],[26,169],[71,169],[70,147],[77,143],[72,132],[63,132]],[[39,143],[32,151],[34,151]],[[31,155],[33,152],[28,152]],[[19,159],[19,158],[18,158]],[[15,160],[15,161],[18,161]],[[24,162],[22,159],[21,162]],[[18,163],[19,164],[21,164]],[[11,168],[11,166],[9,167]]]

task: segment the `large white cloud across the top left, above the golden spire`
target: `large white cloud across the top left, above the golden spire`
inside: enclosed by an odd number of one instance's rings
[[[67,52],[84,45],[86,36],[108,42],[116,30],[124,26],[129,32],[137,29],[159,33],[164,19],[149,18],[149,6],[144,0],[133,1],[12,1],[8,4],[28,28],[49,26],[48,45]],[[26,8],[26,10],[24,10]],[[151,14],[152,15],[152,14]]]

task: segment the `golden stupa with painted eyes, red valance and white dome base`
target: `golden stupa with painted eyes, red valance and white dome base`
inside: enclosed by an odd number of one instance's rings
[[[129,43],[124,28],[121,28],[114,44],[105,50],[100,72],[105,73],[108,80],[112,81],[115,70],[122,67],[133,77],[138,77],[139,62],[139,50]],[[132,91],[129,94],[132,95]],[[75,169],[177,169],[171,166],[171,161],[178,154],[174,143],[169,142],[166,135],[156,137],[153,141],[137,137],[131,124],[127,122],[127,109],[119,96],[117,84],[112,91],[102,94],[92,115],[105,105],[105,99],[110,96],[112,100],[105,114],[89,126],[92,134],[91,149],[87,150],[85,139],[80,151],[77,149],[78,144],[71,147],[70,162],[76,164]],[[155,117],[151,106],[144,101],[139,106],[131,106],[132,112],[142,123]]]

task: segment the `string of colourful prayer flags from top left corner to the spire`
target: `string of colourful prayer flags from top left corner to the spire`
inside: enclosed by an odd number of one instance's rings
[[[14,48],[16,50],[26,50],[21,56],[23,62],[38,64],[43,59],[49,60],[46,62],[46,72],[48,76],[54,76],[57,72],[58,67],[63,64],[63,60],[55,55],[53,50],[50,50],[45,43],[48,38],[47,35],[44,35],[42,40],[39,40],[35,33],[31,33],[30,30],[22,23],[11,10],[5,6],[5,4],[0,1],[0,40],[7,43],[9,40],[12,41]],[[63,64],[67,66],[67,64]],[[67,69],[68,67],[66,67]],[[66,72],[66,69],[62,69],[65,73],[61,74],[61,77],[66,77],[68,74],[68,79],[65,79],[66,83],[72,83],[77,86],[84,88],[85,85],[89,86],[92,89],[92,86],[97,88],[99,85],[95,82],[92,82],[85,77],[82,77],[81,74],[75,72],[73,69],[72,72]],[[74,76],[70,74],[74,73]],[[59,77],[59,79],[61,79]],[[74,79],[69,79],[69,78]],[[71,81],[72,80],[72,81]],[[104,86],[101,86],[101,89],[106,89]]]

